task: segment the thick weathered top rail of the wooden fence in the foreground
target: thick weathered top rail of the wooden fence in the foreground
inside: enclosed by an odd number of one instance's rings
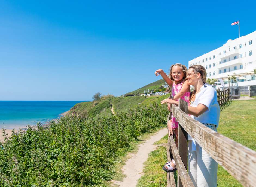
[[[172,105],[173,116],[211,157],[243,186],[256,184],[256,152],[237,143],[185,114]],[[237,169],[239,166],[240,169]]]

